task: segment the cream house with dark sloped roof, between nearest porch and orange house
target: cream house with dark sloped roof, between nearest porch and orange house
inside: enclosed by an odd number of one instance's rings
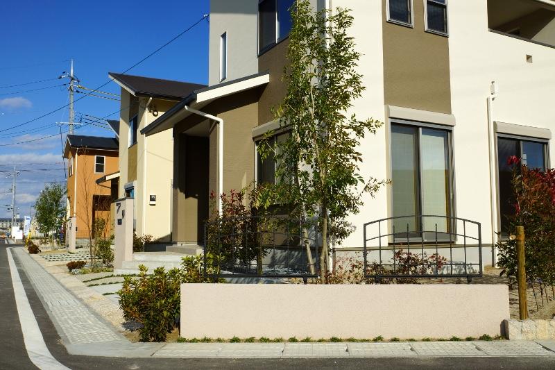
[[[173,135],[164,131],[145,137],[139,131],[204,85],[127,74],[108,76],[121,86],[120,119],[108,121],[119,137],[118,196],[135,199],[137,235],[152,235],[160,242],[169,242]]]

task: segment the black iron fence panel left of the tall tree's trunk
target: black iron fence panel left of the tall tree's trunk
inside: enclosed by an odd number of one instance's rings
[[[311,221],[278,216],[216,219],[205,224],[204,240],[204,274],[214,279],[317,276],[319,234]]]

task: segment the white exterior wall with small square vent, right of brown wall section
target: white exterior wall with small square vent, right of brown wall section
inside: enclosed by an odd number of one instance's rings
[[[456,215],[481,222],[487,244],[492,237],[486,100],[490,83],[499,85],[493,121],[549,128],[553,133],[555,49],[489,32],[484,0],[450,1],[449,7]],[[533,56],[533,64],[527,63],[527,54]],[[549,150],[552,167],[551,143]]]

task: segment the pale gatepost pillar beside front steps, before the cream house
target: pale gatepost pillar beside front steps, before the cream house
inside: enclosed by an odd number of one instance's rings
[[[123,268],[123,262],[133,261],[133,198],[115,201],[114,271]]]

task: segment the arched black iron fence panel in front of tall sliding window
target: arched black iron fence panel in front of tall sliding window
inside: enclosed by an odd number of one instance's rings
[[[482,276],[481,225],[458,217],[413,215],[364,224],[364,275],[382,279]]]

